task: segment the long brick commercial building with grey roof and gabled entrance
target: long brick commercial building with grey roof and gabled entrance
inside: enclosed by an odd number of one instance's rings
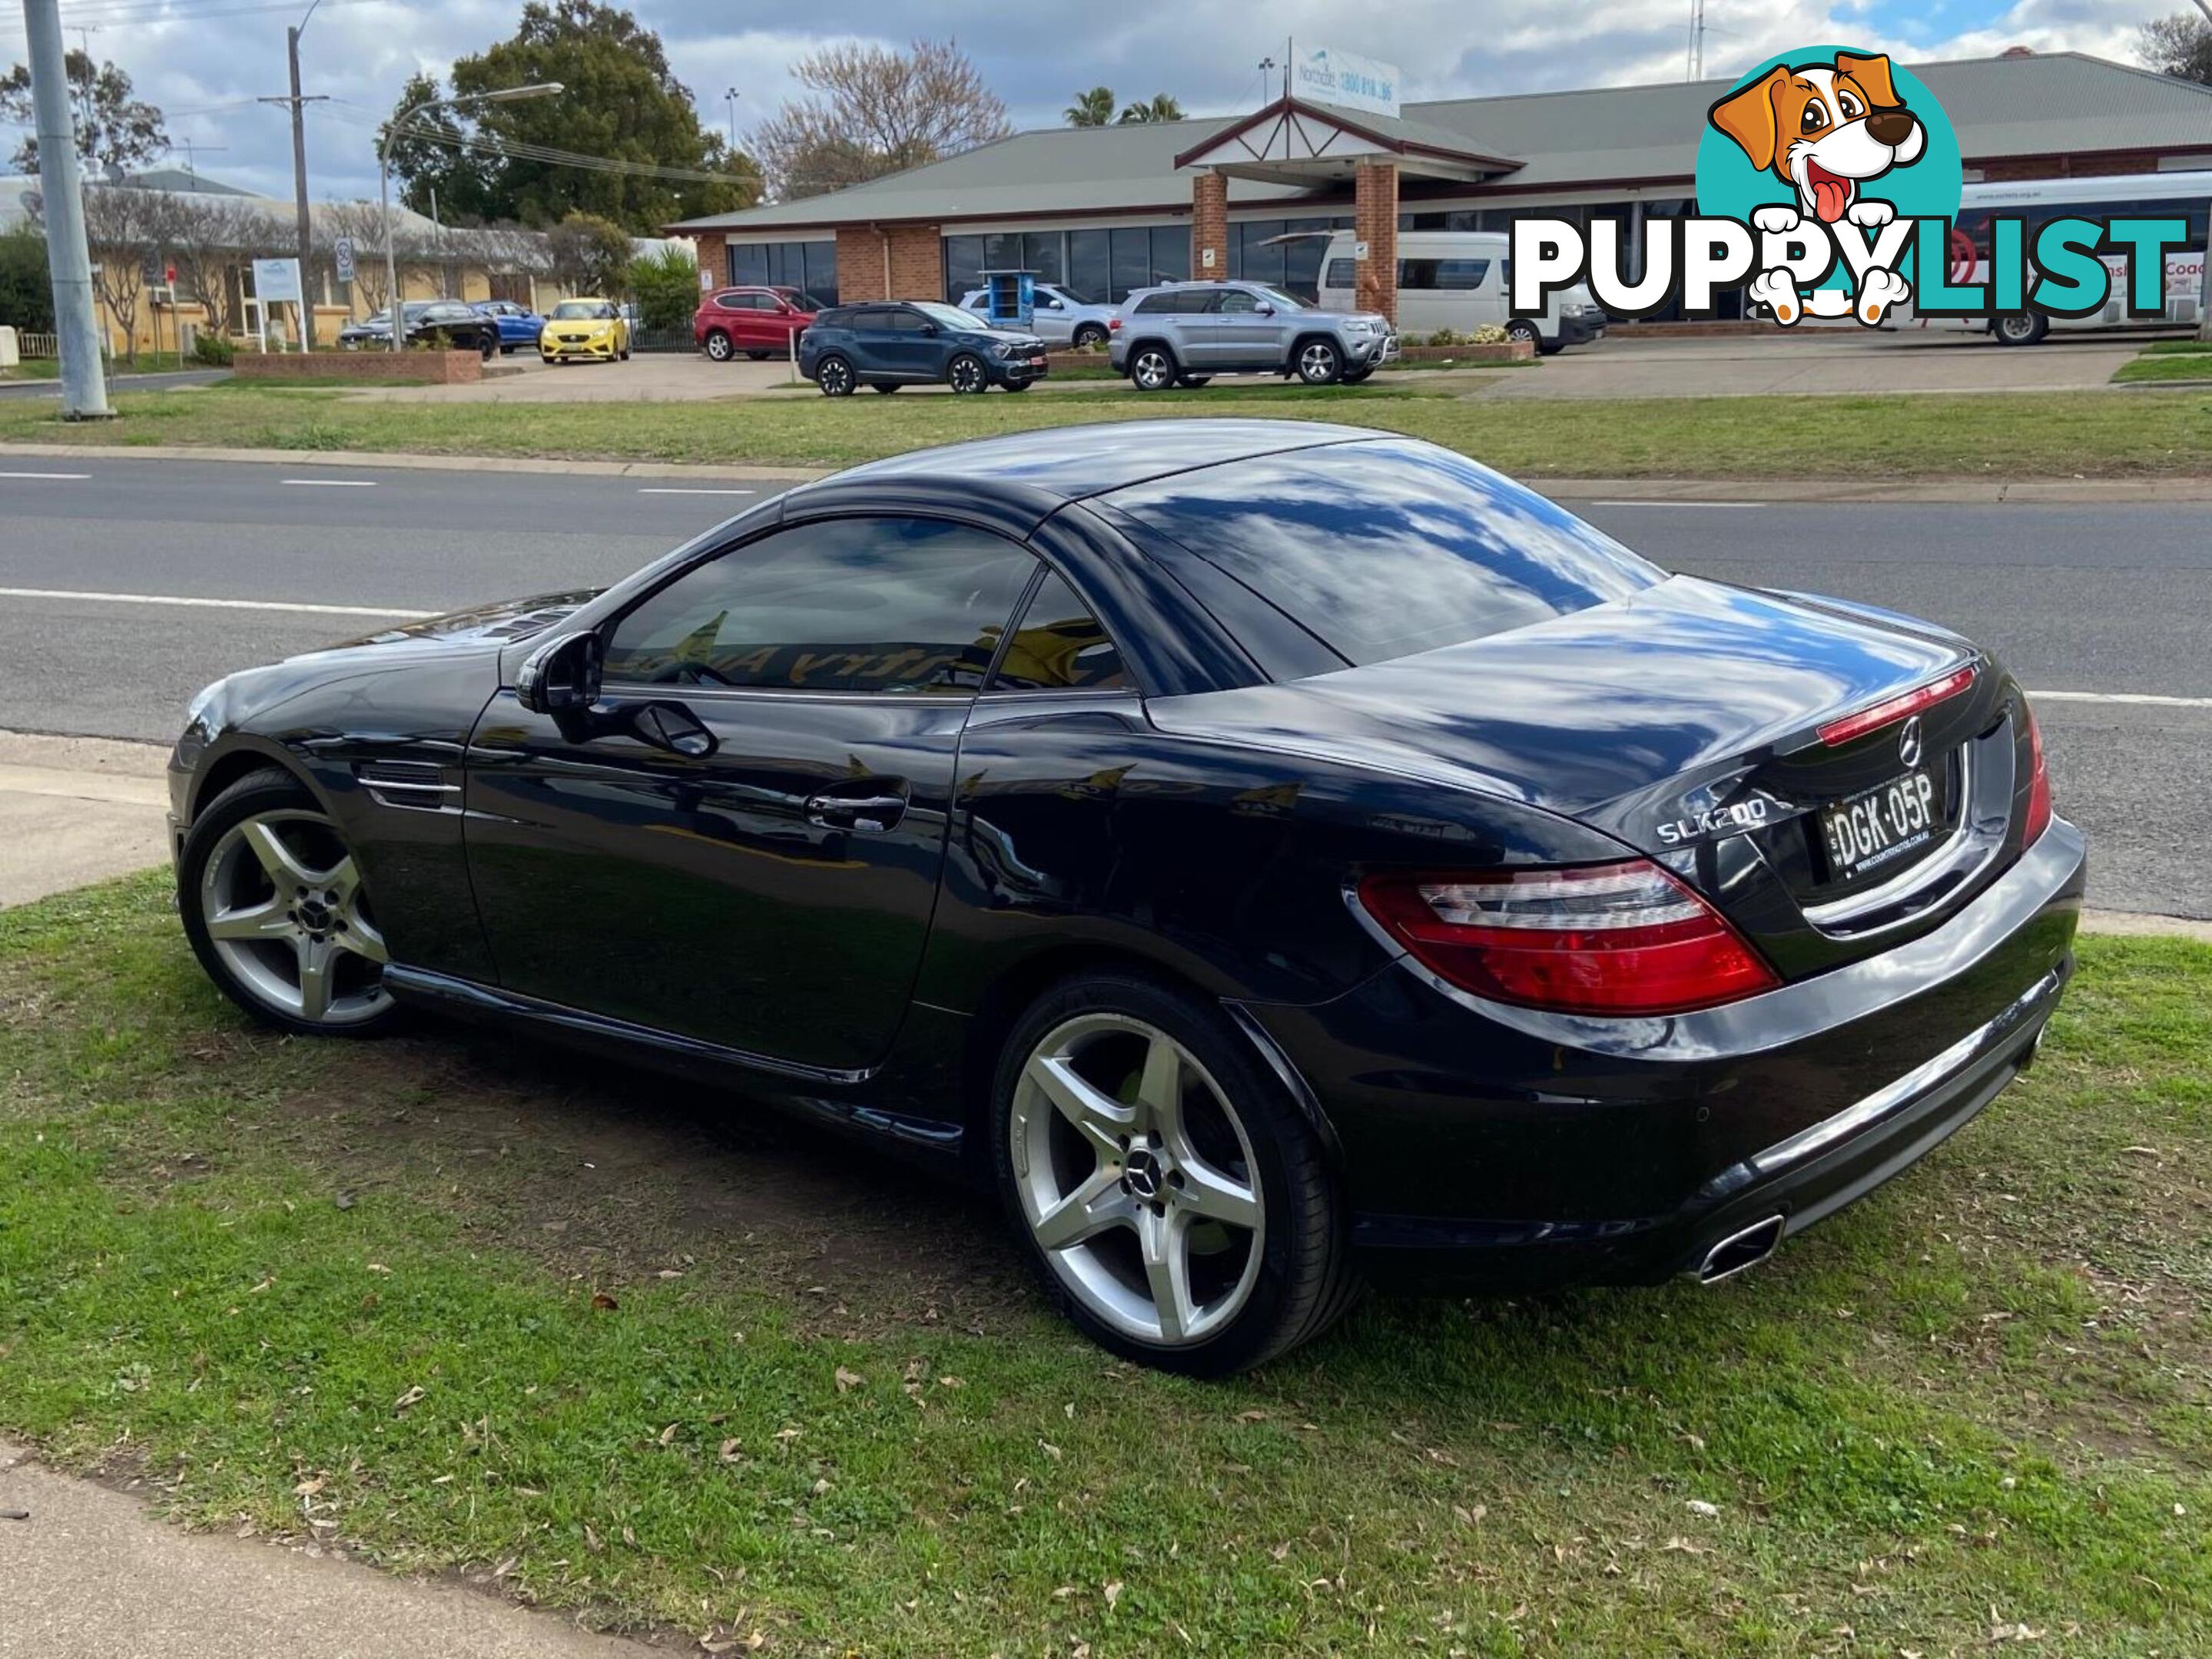
[[[1969,179],[2212,166],[2212,86],[2081,53],[1911,64],[1958,128]],[[1314,290],[1323,241],[1369,243],[1360,296],[1396,314],[1396,232],[1504,230],[1522,215],[1686,215],[1728,82],[1405,104],[1398,117],[1281,97],[1250,115],[1018,133],[832,195],[668,226],[732,283],[823,299],[956,299],[1026,268],[1108,301],[1181,276]]]

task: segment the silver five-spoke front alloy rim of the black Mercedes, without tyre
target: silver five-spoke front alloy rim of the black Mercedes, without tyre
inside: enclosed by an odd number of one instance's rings
[[[361,872],[321,812],[257,812],[223,832],[199,878],[223,967],[274,1013],[349,1026],[389,1006],[385,936]]]

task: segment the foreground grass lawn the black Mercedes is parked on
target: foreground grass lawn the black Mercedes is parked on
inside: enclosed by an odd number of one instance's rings
[[[2208,1652],[2208,1053],[2212,949],[2090,940],[2042,1066],[1770,1267],[1208,1387],[734,1099],[259,1033],[146,876],[0,916],[0,1427],[765,1652]]]

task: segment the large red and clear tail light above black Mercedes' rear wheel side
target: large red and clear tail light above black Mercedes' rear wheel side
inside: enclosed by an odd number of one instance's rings
[[[1575,869],[1387,874],[1360,902],[1462,991],[1562,1013],[1690,1013],[1781,980],[1648,858]]]

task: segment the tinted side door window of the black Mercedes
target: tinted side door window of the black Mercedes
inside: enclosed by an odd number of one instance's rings
[[[615,624],[611,681],[971,695],[1035,560],[922,518],[799,524],[668,584]]]

